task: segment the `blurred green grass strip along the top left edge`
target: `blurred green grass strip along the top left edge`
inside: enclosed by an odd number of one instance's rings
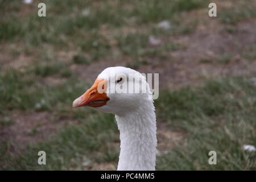
[[[19,38],[31,44],[59,41],[63,43],[61,35],[79,38],[79,35],[86,34],[87,31],[97,32],[102,24],[112,27],[129,26],[126,19],[133,17],[134,24],[137,26],[142,23],[157,23],[164,19],[171,19],[177,12],[189,11],[205,5],[205,1],[202,0],[43,2],[47,5],[47,18],[38,17],[37,9],[19,18],[22,2],[1,1],[2,11],[5,11],[5,8],[6,11],[9,9],[18,11],[11,11],[5,15],[5,18],[1,18],[0,40]],[[82,7],[86,8],[82,9]],[[88,10],[89,15],[83,15],[83,10]]]

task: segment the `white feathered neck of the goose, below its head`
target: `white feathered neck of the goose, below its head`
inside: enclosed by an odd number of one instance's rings
[[[156,117],[152,100],[136,110],[115,115],[121,151],[117,170],[155,170]]]

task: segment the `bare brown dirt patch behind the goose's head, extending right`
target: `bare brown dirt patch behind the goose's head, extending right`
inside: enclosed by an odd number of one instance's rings
[[[210,27],[210,28],[209,28]],[[225,31],[226,26],[213,20],[208,26],[200,25],[188,35],[170,36],[169,42],[180,42],[185,49],[170,52],[170,60],[152,60],[150,65],[138,68],[142,73],[159,73],[160,88],[179,88],[183,85],[200,83],[207,78],[227,75],[245,75],[255,72],[255,61],[243,59],[242,53],[256,44],[256,19],[241,22],[234,34]],[[229,63],[201,63],[201,59],[217,60],[221,55],[230,54]],[[93,82],[106,67],[125,66],[123,60],[104,59],[90,65],[72,65],[72,71],[82,79]]]

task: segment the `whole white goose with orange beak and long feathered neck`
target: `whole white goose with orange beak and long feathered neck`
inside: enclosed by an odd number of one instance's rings
[[[130,79],[130,75],[135,78]],[[113,92],[113,88],[129,89],[129,84],[140,88],[140,92],[134,93],[135,89],[133,93]],[[142,92],[140,85],[146,86],[146,92]],[[115,114],[121,140],[117,170],[155,170],[156,117],[151,96],[141,73],[125,67],[110,67],[73,102],[73,107],[90,106]]]

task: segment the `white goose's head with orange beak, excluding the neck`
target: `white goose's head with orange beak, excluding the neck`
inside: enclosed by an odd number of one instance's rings
[[[105,113],[123,114],[137,109],[150,94],[141,73],[126,67],[109,67],[73,102],[73,107],[89,106]]]

